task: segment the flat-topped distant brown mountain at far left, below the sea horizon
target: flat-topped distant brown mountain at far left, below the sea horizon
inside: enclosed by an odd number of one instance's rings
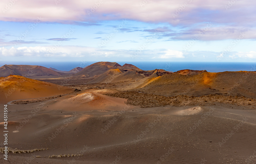
[[[30,65],[4,65],[0,67],[0,76],[7,77],[9,75],[19,75],[23,77],[33,76],[61,76],[65,73],[57,72],[42,66]]]

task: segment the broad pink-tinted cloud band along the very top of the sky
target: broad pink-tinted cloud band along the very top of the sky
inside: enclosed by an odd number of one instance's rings
[[[131,19],[143,22],[193,24],[205,21],[217,23],[255,22],[256,2],[252,0],[2,0],[2,21],[97,22]],[[11,6],[7,7],[6,5]],[[97,6],[98,5],[98,6]],[[226,6],[225,6],[226,5]],[[228,6],[228,8],[227,8]],[[93,9],[94,7],[94,9]],[[250,14],[249,14],[250,13]]]

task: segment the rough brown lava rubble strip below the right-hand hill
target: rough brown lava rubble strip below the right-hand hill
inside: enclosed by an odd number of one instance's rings
[[[106,94],[113,97],[120,97],[127,99],[126,104],[138,105],[142,108],[159,107],[159,106],[190,106],[190,105],[216,105],[224,103],[234,106],[242,106],[254,109],[256,100],[246,98],[244,96],[226,96],[226,94],[210,94],[200,97],[178,95],[178,96],[160,96],[155,94],[139,93],[134,91],[118,92],[113,94]]]

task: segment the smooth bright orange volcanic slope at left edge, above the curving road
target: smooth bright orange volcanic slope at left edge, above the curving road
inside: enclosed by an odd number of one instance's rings
[[[1,103],[7,103],[16,99],[69,94],[71,92],[73,92],[73,89],[68,87],[28,79],[18,75],[9,75],[6,78],[0,78]]]

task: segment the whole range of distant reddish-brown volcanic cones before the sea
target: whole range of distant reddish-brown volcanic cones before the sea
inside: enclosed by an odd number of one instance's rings
[[[177,72],[169,72],[163,69],[155,69],[144,71],[132,64],[124,64],[121,66],[116,62],[96,62],[85,68],[76,67],[70,71],[60,71],[55,68],[46,68],[42,66],[30,65],[4,65],[0,67],[0,76],[7,77],[10,74],[20,75],[24,77],[36,76],[62,76],[73,74],[72,78],[94,78],[89,83],[111,83],[122,81],[146,81],[144,85],[153,82],[154,78],[163,75],[180,74],[180,75],[197,75],[206,70],[180,70]]]

